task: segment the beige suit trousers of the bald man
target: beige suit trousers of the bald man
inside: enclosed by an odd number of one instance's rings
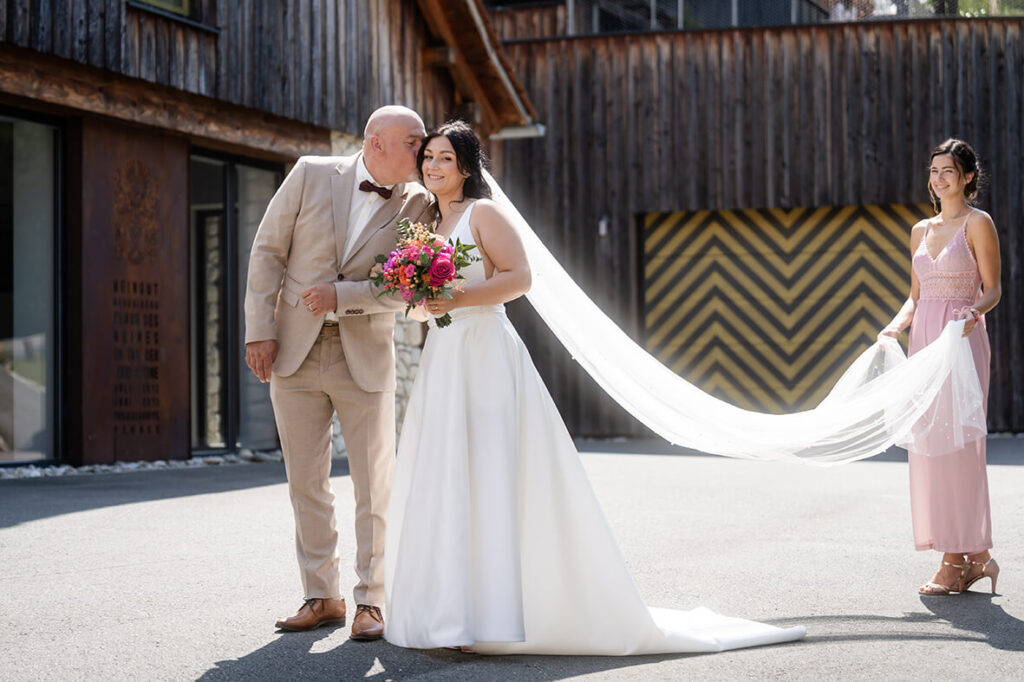
[[[324,328],[295,374],[272,375],[270,400],[295,510],[295,545],[307,599],[340,596],[331,491],[331,421],[341,422],[355,493],[357,604],[384,605],[384,532],[394,470],[394,391],[352,380],[337,327]]]

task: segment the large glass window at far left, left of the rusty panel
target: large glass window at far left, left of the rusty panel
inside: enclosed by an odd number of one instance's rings
[[[0,116],[0,461],[54,457],[57,135]]]

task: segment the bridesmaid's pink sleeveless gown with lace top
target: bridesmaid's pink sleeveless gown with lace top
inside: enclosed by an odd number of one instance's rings
[[[967,243],[966,224],[967,218],[936,258],[928,253],[924,239],[913,254],[921,296],[910,326],[911,355],[955,318],[953,310],[974,305],[981,293],[981,274]],[[991,351],[984,317],[968,338],[987,404]],[[937,457],[911,452],[909,462],[914,547],[964,554],[991,549],[985,439]]]

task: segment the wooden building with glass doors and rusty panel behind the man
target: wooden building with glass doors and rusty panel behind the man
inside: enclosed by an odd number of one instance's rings
[[[0,0],[0,464],[271,449],[249,247],[303,154],[401,103],[534,123],[450,0]]]

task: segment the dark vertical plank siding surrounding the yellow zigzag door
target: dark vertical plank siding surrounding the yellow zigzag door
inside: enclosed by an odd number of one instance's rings
[[[522,12],[514,20],[506,35],[534,26]],[[1022,33],[1024,22],[1005,18],[507,42],[548,133],[504,142],[495,158],[555,255],[636,333],[638,215],[927,202],[931,148],[969,140],[989,173],[980,206],[1002,252],[1002,301],[988,315],[989,425],[1020,432]],[[644,432],[528,306],[513,307],[573,433]]]

